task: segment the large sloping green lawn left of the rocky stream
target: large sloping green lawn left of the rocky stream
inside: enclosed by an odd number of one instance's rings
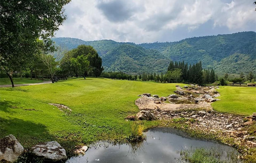
[[[105,78],[83,78],[63,82],[1,88],[0,137],[16,136],[29,147],[57,140],[65,148],[100,139],[125,139],[130,125],[124,118],[135,115],[138,94],[173,94],[176,83],[147,83]],[[183,84],[181,84],[183,85]],[[48,103],[64,104],[70,114]],[[34,110],[25,110],[34,109]],[[145,128],[157,125],[145,122]]]

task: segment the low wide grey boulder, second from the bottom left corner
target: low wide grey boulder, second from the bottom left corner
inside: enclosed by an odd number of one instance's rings
[[[31,148],[32,154],[42,157],[44,161],[62,161],[66,160],[66,151],[58,142],[45,142]]]

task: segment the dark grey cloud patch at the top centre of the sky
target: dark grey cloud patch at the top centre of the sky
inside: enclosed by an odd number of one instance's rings
[[[109,21],[114,22],[125,21],[137,11],[137,7],[125,0],[102,1],[97,5],[97,8],[103,12]]]

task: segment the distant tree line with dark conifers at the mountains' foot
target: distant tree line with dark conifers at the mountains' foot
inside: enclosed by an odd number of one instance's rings
[[[213,83],[218,79],[213,69],[203,70],[201,61],[196,64],[189,65],[184,61],[173,62],[168,66],[168,71],[163,74],[156,73],[142,73],[139,75],[128,75],[122,72],[104,72],[102,77],[111,79],[123,80],[142,80],[142,81],[155,81],[161,83],[197,83],[208,84]]]

